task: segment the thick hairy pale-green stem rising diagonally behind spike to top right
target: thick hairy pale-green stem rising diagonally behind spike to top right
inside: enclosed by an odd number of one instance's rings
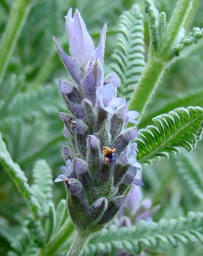
[[[129,101],[129,109],[139,111],[139,119],[150,102],[166,66],[172,59],[171,49],[180,34],[192,3],[193,0],[178,0],[158,51],[150,48],[145,71]]]

